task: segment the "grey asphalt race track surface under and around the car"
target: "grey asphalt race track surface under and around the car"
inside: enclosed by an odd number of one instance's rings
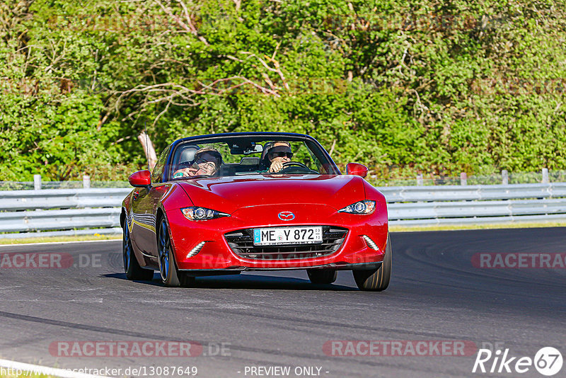
[[[266,377],[251,374],[250,367],[260,366],[291,367],[289,375],[269,377],[317,376],[296,375],[296,367],[320,367],[318,376],[329,378],[543,377],[533,367],[525,374],[473,374],[477,353],[336,356],[323,345],[465,340],[531,358],[553,346],[566,357],[566,269],[483,269],[472,263],[480,252],[564,253],[565,231],[391,234],[393,277],[381,293],[357,290],[351,272],[339,272],[333,285],[312,285],[304,271],[279,271],[206,277],[197,279],[196,287],[168,288],[157,275],[152,282],[126,280],[120,241],[2,246],[0,255],[69,253],[76,266],[0,269],[0,358],[63,368],[195,366],[197,377]],[[195,341],[204,345],[204,355],[50,352],[50,345],[62,340]],[[217,353],[219,343],[225,343],[224,355]],[[566,364],[555,377],[565,375]]]

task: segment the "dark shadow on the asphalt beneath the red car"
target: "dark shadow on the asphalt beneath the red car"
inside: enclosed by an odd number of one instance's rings
[[[124,273],[109,273],[100,277],[127,280]],[[151,281],[137,281],[145,285],[163,286],[158,278]],[[254,290],[325,290],[325,291],[358,291],[357,287],[344,285],[313,284],[309,280],[294,277],[273,277],[267,275],[215,275],[197,277],[195,285],[187,289],[254,289]]]

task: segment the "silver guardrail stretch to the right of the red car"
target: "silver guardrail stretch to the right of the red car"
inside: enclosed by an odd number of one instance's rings
[[[379,188],[391,224],[566,221],[566,183]]]

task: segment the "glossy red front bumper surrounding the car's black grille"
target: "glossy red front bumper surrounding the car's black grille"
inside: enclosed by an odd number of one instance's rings
[[[296,217],[291,222],[277,218],[282,211]],[[180,210],[167,212],[175,261],[179,270],[243,271],[333,268],[356,270],[379,268],[386,248],[388,222],[386,204],[376,203],[373,214],[337,212],[328,205],[265,205],[240,209],[231,217],[190,221]],[[300,222],[297,222],[300,221]],[[347,229],[333,253],[309,258],[253,259],[239,256],[226,240],[232,231],[259,227],[330,226]],[[370,246],[371,242],[374,242]]]

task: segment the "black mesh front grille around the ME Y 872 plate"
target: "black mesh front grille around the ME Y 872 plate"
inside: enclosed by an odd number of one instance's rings
[[[241,229],[224,234],[232,251],[252,260],[294,260],[316,258],[335,253],[346,238],[348,230],[342,227],[323,226],[323,242],[319,244],[293,244],[254,246],[253,229]]]

